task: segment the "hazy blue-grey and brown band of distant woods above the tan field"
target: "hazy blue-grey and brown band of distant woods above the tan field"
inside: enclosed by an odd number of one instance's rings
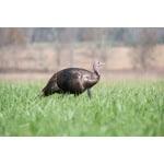
[[[162,27],[1,27],[0,47],[35,42],[98,42],[104,35],[112,46],[133,46],[142,44],[140,34],[144,31],[152,33],[156,43],[164,43]]]

